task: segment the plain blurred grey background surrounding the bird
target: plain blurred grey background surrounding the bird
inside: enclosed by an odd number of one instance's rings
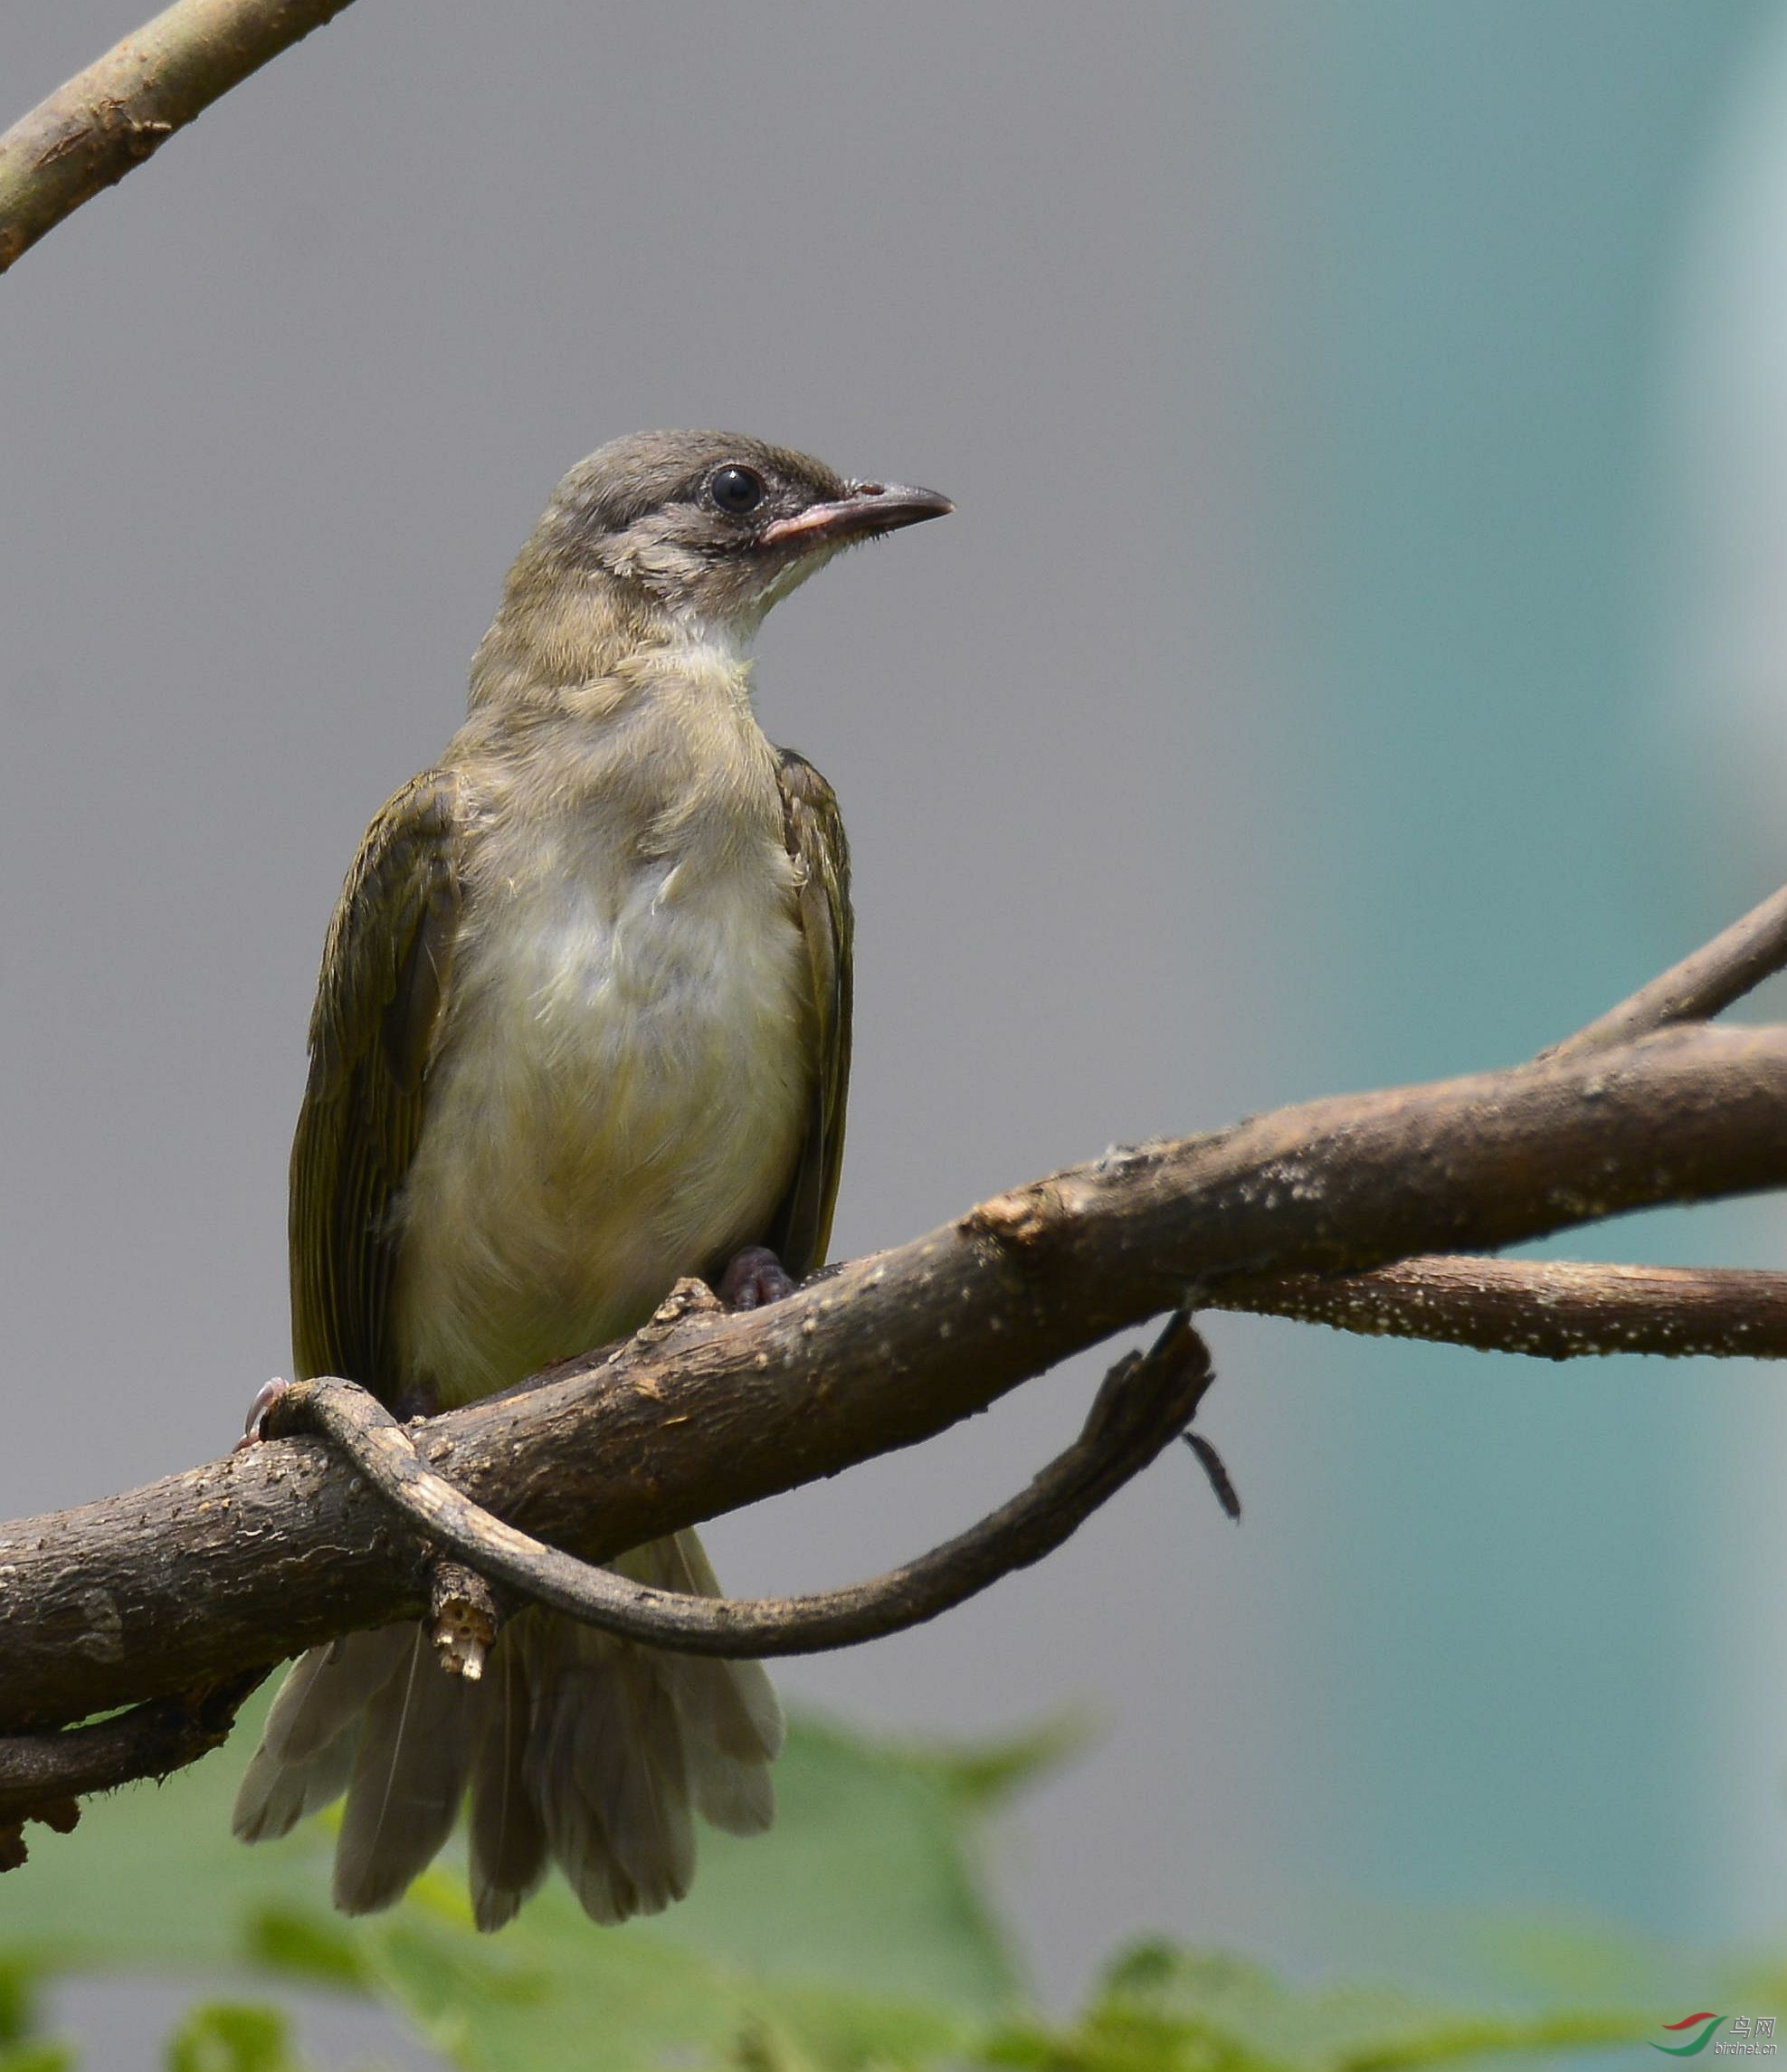
[[[0,99],[135,19],[10,8]],[[284,1370],[330,903],[554,479],[618,431],[732,425],[960,506],[761,642],[765,725],[856,852],[840,1254],[1285,1092],[1242,64],[1171,6],[367,0],[8,278],[8,1513],[218,1452]],[[929,1544],[1086,1380],[717,1525],[724,1577]],[[1285,1550],[1269,1392],[1225,1399],[1246,1537],[1173,1459],[1045,1571],[782,1676],[885,1730],[1097,1728],[999,1863],[1051,1997],[1124,1929],[1238,1929],[1275,1645],[1236,1641]]]

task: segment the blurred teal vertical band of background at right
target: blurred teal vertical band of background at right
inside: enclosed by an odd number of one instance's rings
[[[1783,876],[1658,723],[1663,342],[1706,155],[1777,19],[1256,17],[1304,108],[1265,377],[1294,858],[1275,1098],[1530,1055]],[[1737,1260],[1752,1229],[1675,1214],[1557,1249]],[[1779,1877],[1758,1896],[1727,1857],[1743,1832],[1779,1869],[1779,1765],[1735,1805],[1706,1703],[1746,1703],[1733,1635],[1768,1645],[1721,1513],[1756,1370],[1263,1336],[1296,1376],[1314,1521],[1283,1807],[1331,1900],[1314,1948],[1406,1964],[1399,1908],[1433,1906],[1779,1929]]]

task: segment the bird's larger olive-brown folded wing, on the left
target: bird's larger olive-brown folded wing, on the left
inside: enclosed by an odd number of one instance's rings
[[[367,829],[330,922],[311,1077],[292,1140],[292,1355],[388,1401],[396,1198],[421,1135],[427,1067],[460,918],[460,777],[427,771]]]

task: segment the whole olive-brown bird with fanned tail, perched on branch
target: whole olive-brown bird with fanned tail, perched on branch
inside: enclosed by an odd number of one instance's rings
[[[328,928],[290,1164],[292,1357],[431,1415],[636,1330],[686,1276],[734,1307],[823,1264],[850,1069],[838,800],[773,748],[753,638],[842,549],[947,514],[721,431],[578,462],[510,568],[466,721],[373,818]],[[717,1595],[692,1531],[614,1562]],[[599,1923],[688,1892],[692,1813],[773,1819],[757,1662],[529,1608],[483,1676],[419,1624],[288,1670],[249,1842],[346,1796],[334,1902],[394,1904],[469,1798],[473,1915],[556,1863]]]

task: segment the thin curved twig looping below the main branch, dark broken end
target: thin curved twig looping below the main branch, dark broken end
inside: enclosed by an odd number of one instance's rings
[[[386,1502],[477,1575],[585,1624],[692,1656],[806,1656],[904,1633],[1051,1554],[1186,1430],[1213,1380],[1204,1341],[1175,1312],[1146,1353],[1111,1368],[1080,1436],[1012,1502],[904,1569],[804,1598],[697,1598],[562,1554],[425,1467],[408,1432],[354,1382],[294,1384],[267,1428],[282,1438],[325,1434]]]

